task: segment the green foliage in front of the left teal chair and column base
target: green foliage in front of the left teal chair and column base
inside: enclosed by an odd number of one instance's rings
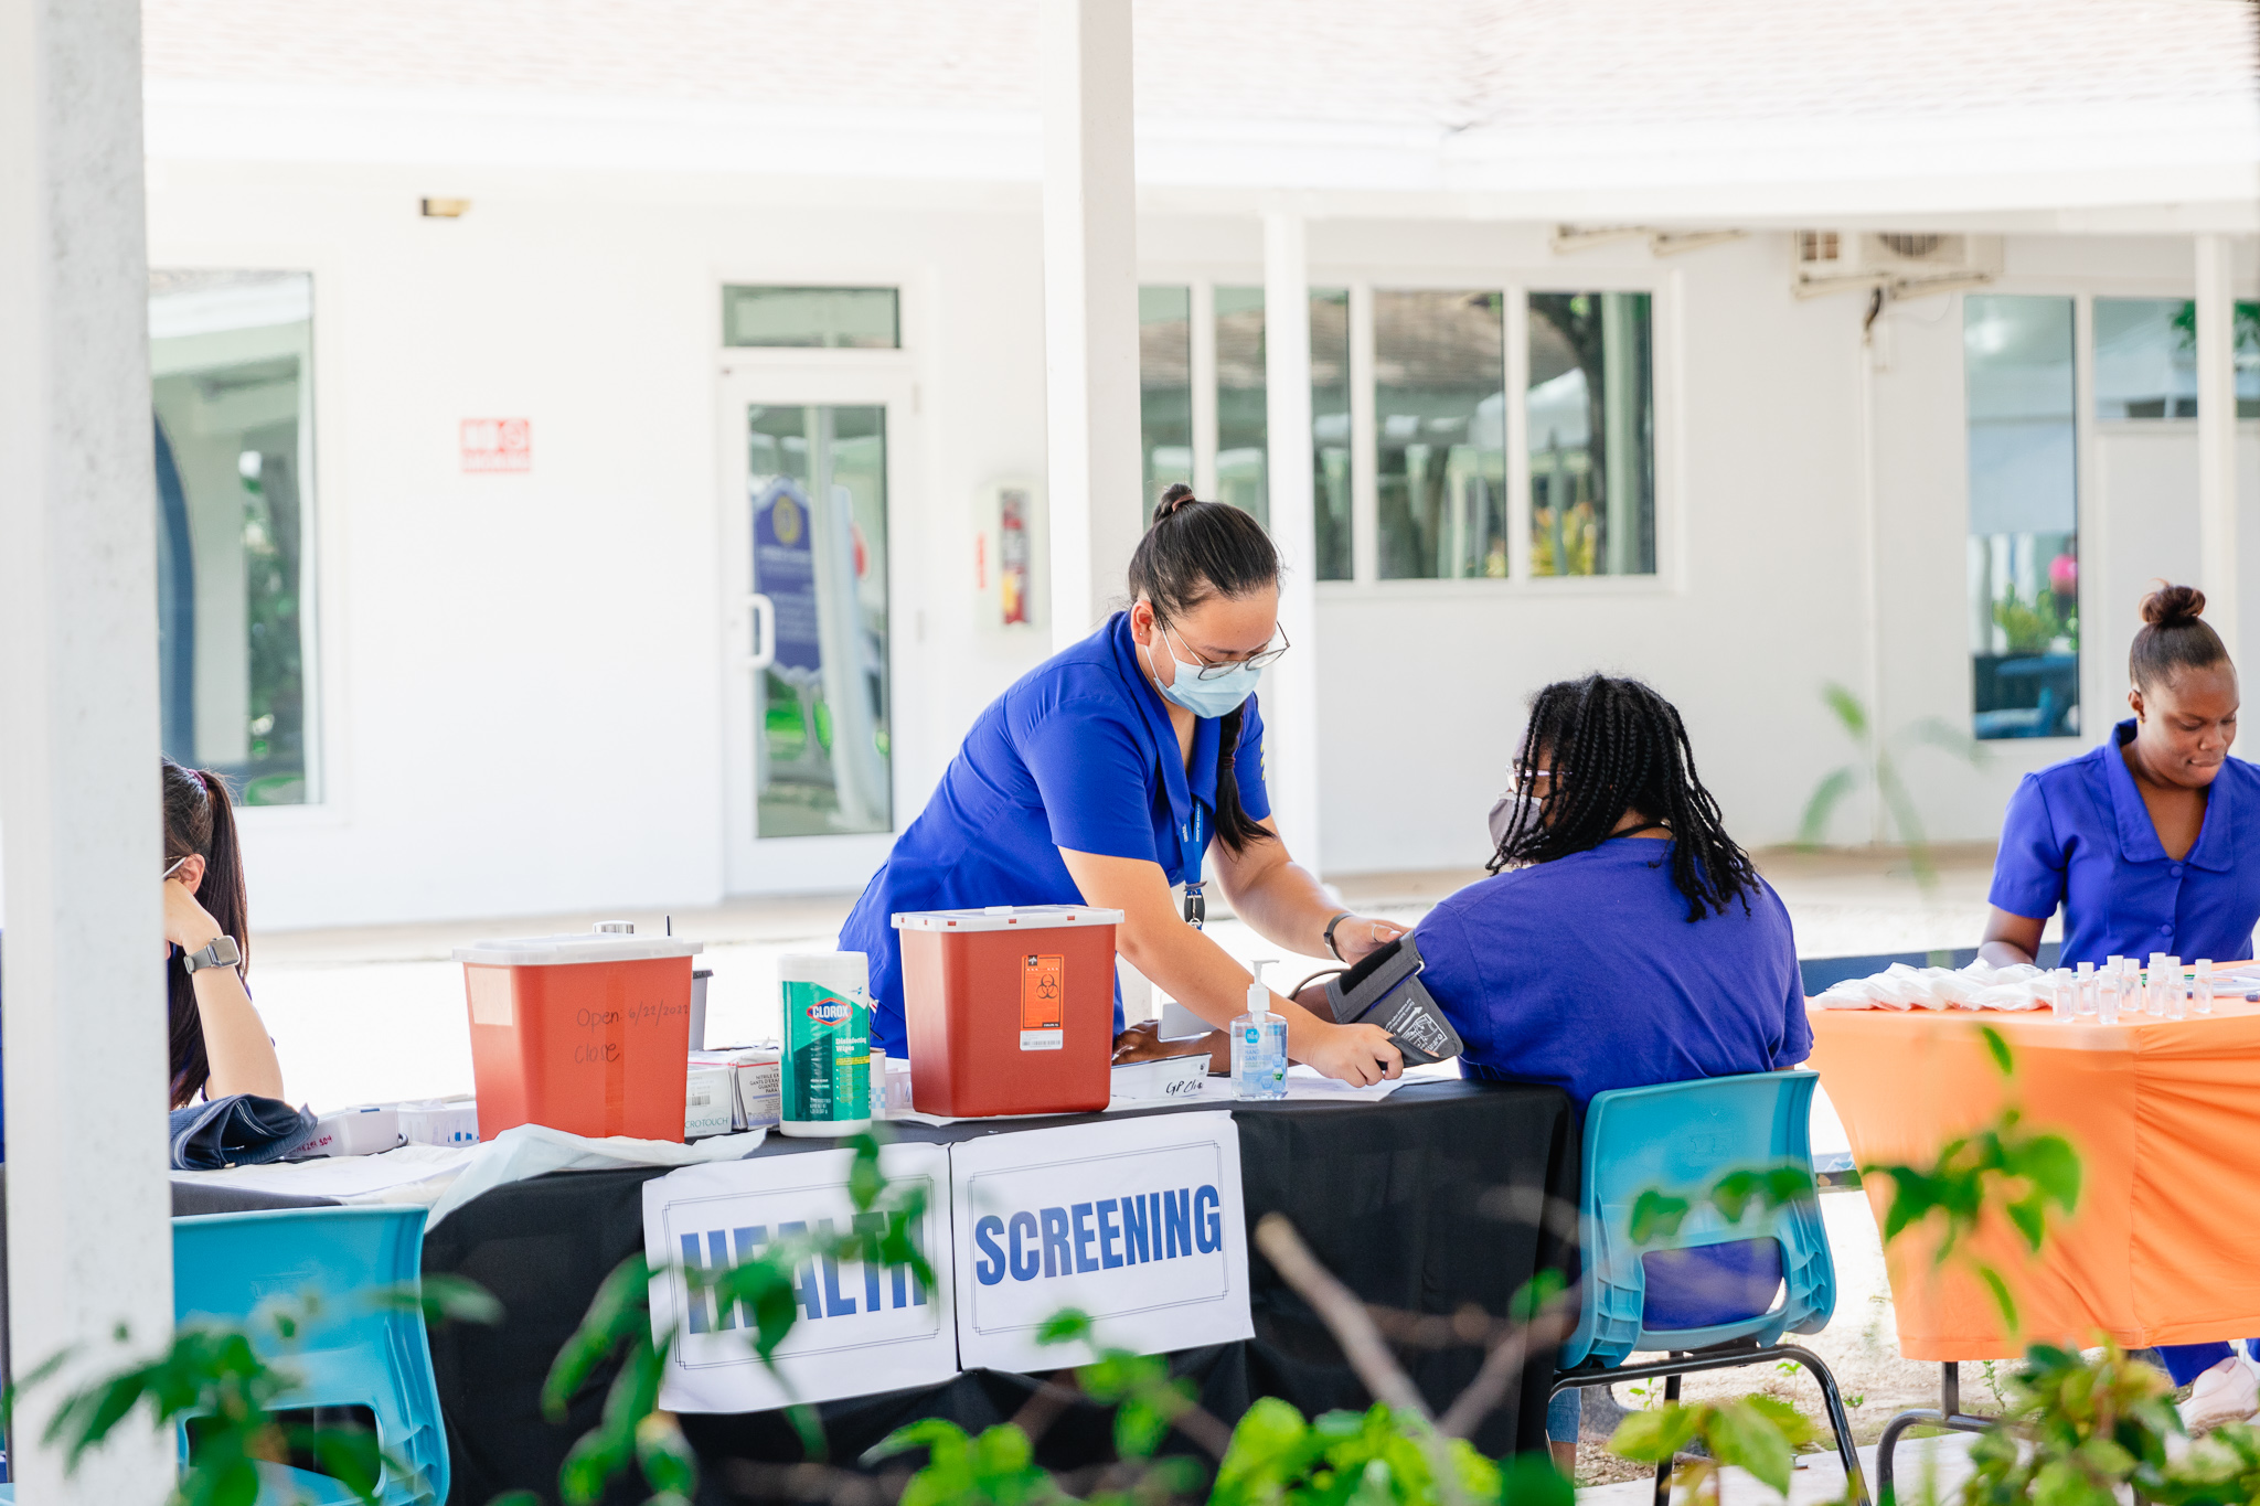
[[[357,1301],[384,1310],[418,1307],[434,1325],[502,1321],[502,1305],[459,1276],[380,1287]],[[68,1393],[41,1443],[61,1447],[63,1468],[77,1472],[86,1454],[136,1413],[145,1413],[158,1431],[194,1420],[197,1447],[174,1486],[172,1506],[246,1506],[260,1490],[260,1463],[282,1463],[292,1454],[310,1456],[319,1472],[346,1486],[357,1501],[375,1506],[377,1481],[386,1470],[414,1479],[407,1461],[386,1454],[368,1429],[305,1427],[276,1416],[278,1402],[287,1402],[303,1384],[289,1366],[289,1352],[305,1341],[323,1307],[310,1292],[267,1303],[244,1323],[183,1325],[154,1359]],[[115,1339],[129,1343],[124,1330]],[[11,1422],[23,1391],[52,1380],[68,1359],[66,1350],[32,1371],[0,1398],[0,1413]]]

